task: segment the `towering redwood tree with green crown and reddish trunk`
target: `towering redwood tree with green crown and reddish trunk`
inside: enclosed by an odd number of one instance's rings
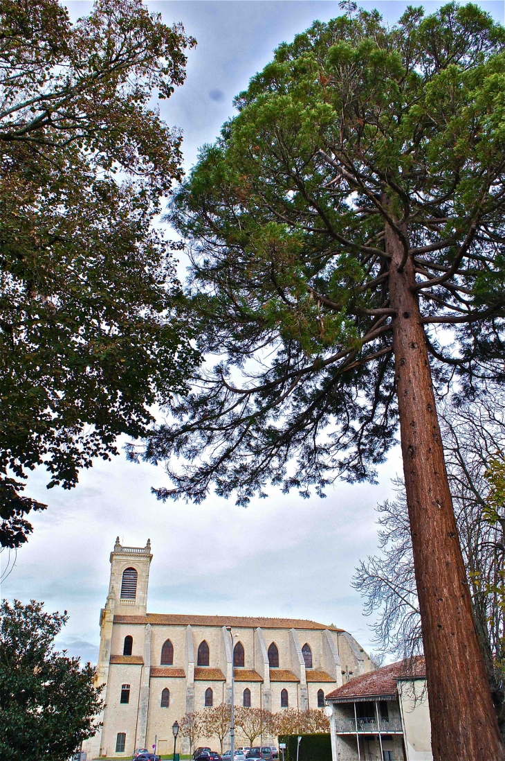
[[[279,46],[172,204],[220,361],[144,452],[159,498],[245,504],[373,479],[399,425],[437,761],[503,757],[435,392],[503,378],[504,49],[453,4],[392,28],[349,6]]]

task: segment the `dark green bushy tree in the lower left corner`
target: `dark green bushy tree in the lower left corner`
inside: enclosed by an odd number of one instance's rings
[[[4,600],[0,612],[0,757],[68,761],[99,728],[95,670],[53,649],[66,611]]]

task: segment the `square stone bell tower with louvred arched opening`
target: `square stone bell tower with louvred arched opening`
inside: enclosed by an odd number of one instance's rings
[[[116,616],[145,616],[149,568],[153,556],[151,543],[145,547],[123,547],[119,537],[110,553],[109,597],[114,600]]]

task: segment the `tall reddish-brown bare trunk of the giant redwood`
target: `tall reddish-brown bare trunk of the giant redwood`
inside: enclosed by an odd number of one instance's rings
[[[443,459],[413,263],[389,225],[393,349],[435,761],[498,761],[498,731]]]

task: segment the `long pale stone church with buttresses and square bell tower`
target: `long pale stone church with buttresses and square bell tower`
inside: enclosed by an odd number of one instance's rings
[[[157,753],[172,753],[174,721],[230,702],[232,673],[235,705],[278,712],[322,709],[327,693],[374,669],[352,635],[315,621],[147,613],[152,559],[149,540],[123,547],[118,538],[110,555],[96,674],[106,705],[84,743],[88,759],[131,758],[155,740]],[[187,739],[178,750],[189,752]]]

